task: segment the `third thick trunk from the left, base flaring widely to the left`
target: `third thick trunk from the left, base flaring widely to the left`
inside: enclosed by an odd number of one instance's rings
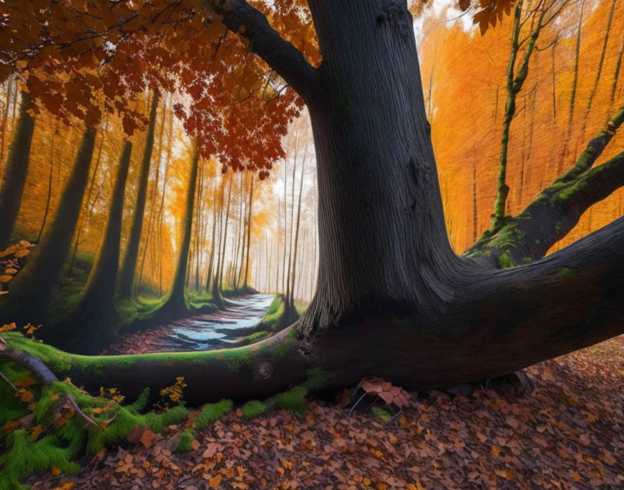
[[[80,297],[54,328],[42,329],[42,338],[72,352],[97,354],[110,342],[116,322],[115,285],[119,266],[119,246],[125,182],[130,167],[132,143],[126,141],[109,201],[108,221],[100,250]]]

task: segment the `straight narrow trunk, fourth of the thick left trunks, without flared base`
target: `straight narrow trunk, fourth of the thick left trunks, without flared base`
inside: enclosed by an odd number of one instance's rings
[[[152,150],[154,148],[154,131],[156,126],[156,110],[158,108],[158,93],[154,93],[152,108],[150,110],[150,121],[146,135],[145,150],[143,150],[143,161],[141,163],[141,175],[139,175],[139,190],[137,191],[137,204],[134,206],[132,216],[132,228],[130,228],[130,238],[128,239],[123,265],[119,275],[119,296],[122,299],[130,298],[132,295],[132,283],[134,283],[134,271],[137,268],[137,258],[139,257],[139,243],[141,242],[141,230],[143,228],[143,215],[147,198],[148,180],[150,177],[150,161],[152,161]]]

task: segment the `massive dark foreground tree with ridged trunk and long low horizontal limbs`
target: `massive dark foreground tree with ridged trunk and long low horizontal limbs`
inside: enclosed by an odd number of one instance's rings
[[[545,250],[531,250],[492,262],[487,244],[482,254],[470,254],[481,258],[455,255],[405,1],[308,4],[323,56],[319,68],[246,1],[205,2],[206,15],[219,14],[246,38],[309,108],[320,263],[317,292],[302,317],[237,349],[87,357],[13,334],[0,355],[22,352],[76,384],[106,381],[129,397],[182,376],[185,397],[200,402],[266,397],[303,381],[312,368],[331,375],[327,388],[371,374],[405,388],[448,386],[497,377],[624,331],[624,219],[543,259]],[[565,206],[554,209],[582,213],[581,203],[588,207],[591,196],[609,193],[607,184],[592,190],[600,175],[621,175],[620,167],[616,157],[585,169],[574,178],[587,187],[574,187]],[[543,231],[542,213],[524,217]],[[498,248],[500,258],[515,245]],[[532,262],[496,268],[524,256]]]

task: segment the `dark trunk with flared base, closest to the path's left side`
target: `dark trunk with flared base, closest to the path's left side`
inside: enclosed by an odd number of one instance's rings
[[[188,309],[185,297],[185,280],[187,274],[187,264],[189,263],[189,250],[191,248],[198,163],[197,142],[193,141],[193,157],[189,183],[187,186],[187,202],[184,221],[182,221],[182,242],[180,243],[178,264],[176,266],[176,274],[173,276],[171,292],[169,292],[169,297],[162,307],[162,314],[164,315],[176,316],[184,313]]]

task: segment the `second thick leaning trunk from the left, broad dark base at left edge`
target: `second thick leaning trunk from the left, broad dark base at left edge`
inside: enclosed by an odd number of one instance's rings
[[[95,131],[86,129],[72,173],[65,184],[54,218],[45,228],[28,264],[11,283],[3,317],[26,324],[42,322],[50,294],[61,275],[76,230],[91,168]]]

